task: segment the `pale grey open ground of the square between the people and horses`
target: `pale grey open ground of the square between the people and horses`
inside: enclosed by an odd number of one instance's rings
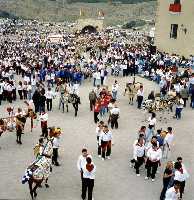
[[[121,109],[119,129],[113,130],[114,146],[111,160],[101,161],[97,157],[97,143],[93,122],[93,113],[89,111],[88,93],[91,83],[86,81],[80,88],[81,106],[78,117],[74,117],[73,108],[69,113],[61,113],[54,103],[53,112],[49,113],[49,126],[59,126],[63,129],[60,147],[60,167],[54,167],[49,177],[50,188],[38,189],[37,200],[80,200],[81,182],[76,168],[76,161],[83,146],[89,149],[97,165],[97,174],[94,187],[95,200],[158,200],[162,187],[162,173],[165,161],[159,168],[156,181],[145,181],[145,171],[136,177],[133,169],[129,167],[129,158],[132,157],[132,144],[136,139],[136,132],[145,122],[143,111],[137,110],[136,105],[130,106],[127,97],[123,96],[124,85],[129,78],[117,78],[120,82],[118,105]],[[111,85],[114,78],[109,78]],[[143,82],[145,91],[156,90],[157,86],[148,80],[137,78]],[[16,102],[15,107],[22,105]],[[7,116],[6,105],[0,107],[0,116]],[[183,118],[179,121],[168,115],[167,123],[158,122],[157,128],[172,126],[175,132],[175,144],[172,148],[170,160],[182,156],[190,173],[186,183],[184,199],[194,199],[194,111],[190,108],[183,110]],[[21,184],[21,177],[25,168],[33,159],[33,146],[40,135],[40,125],[31,133],[30,122],[27,122],[23,144],[16,144],[15,133],[6,133],[0,138],[0,199],[30,199],[28,185]]]

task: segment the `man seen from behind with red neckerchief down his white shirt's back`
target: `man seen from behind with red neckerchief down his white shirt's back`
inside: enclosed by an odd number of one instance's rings
[[[96,166],[92,162],[91,157],[86,158],[86,164],[83,167],[83,187],[82,199],[86,199],[86,192],[88,191],[88,200],[92,200],[92,193],[94,188],[94,179],[96,173]]]

